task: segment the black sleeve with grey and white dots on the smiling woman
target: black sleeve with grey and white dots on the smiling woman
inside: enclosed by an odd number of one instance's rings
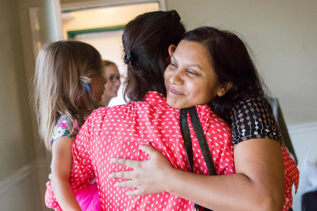
[[[256,138],[277,140],[282,144],[281,133],[268,104],[260,98],[248,98],[231,108],[232,145]]]

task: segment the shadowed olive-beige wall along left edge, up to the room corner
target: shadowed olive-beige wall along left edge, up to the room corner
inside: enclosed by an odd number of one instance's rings
[[[40,210],[17,1],[0,7],[0,210]],[[30,194],[31,193],[31,194]]]

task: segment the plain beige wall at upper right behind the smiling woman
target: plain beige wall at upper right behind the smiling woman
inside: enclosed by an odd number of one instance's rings
[[[188,30],[241,33],[288,125],[317,121],[317,1],[166,0]]]

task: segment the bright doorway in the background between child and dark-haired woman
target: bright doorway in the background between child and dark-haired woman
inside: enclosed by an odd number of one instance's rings
[[[124,104],[122,82],[125,77],[125,65],[123,63],[122,34],[127,22],[134,17],[150,11],[162,9],[162,1],[121,5],[96,5],[62,7],[62,31],[63,38],[79,40],[94,46],[101,54],[102,59],[115,63],[118,67],[121,85],[118,95],[113,97],[108,106]],[[66,7],[67,6],[67,7]],[[165,6],[165,5],[163,5]],[[165,9],[165,8],[164,8]]]

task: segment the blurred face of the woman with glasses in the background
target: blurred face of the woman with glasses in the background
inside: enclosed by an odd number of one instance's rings
[[[108,65],[105,67],[108,83],[105,84],[105,94],[103,97],[112,98],[117,96],[120,82],[120,73],[116,65]]]

